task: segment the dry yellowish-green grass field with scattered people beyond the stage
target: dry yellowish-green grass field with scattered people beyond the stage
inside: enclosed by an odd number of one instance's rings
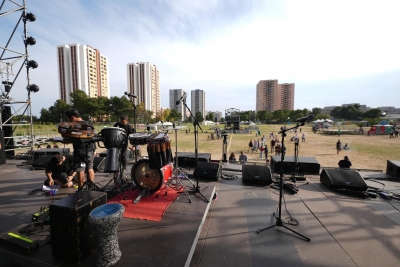
[[[110,126],[110,125],[109,125]],[[194,134],[193,125],[186,124],[190,132],[186,134],[185,129],[178,130],[178,152],[194,152]],[[259,125],[261,135],[267,137],[267,145],[270,148],[269,132],[272,131],[277,135],[281,125]],[[104,126],[96,126],[97,131],[101,131]],[[345,126],[348,128],[358,128],[357,126]],[[342,127],[342,129],[346,129]],[[208,136],[212,132],[210,126],[203,126],[203,132],[199,132],[199,153],[211,153],[213,160],[220,160],[222,158],[222,139],[208,140]],[[354,168],[358,169],[377,169],[386,170],[387,160],[400,160],[400,138],[389,138],[389,135],[377,135],[367,137],[367,135],[326,135],[321,133],[314,134],[311,131],[311,126],[301,127],[302,131],[306,134],[306,142],[300,143],[299,157],[315,157],[325,167],[337,167],[339,160],[347,155]],[[367,132],[368,128],[364,128]],[[139,129],[144,131],[144,129]],[[40,129],[34,130],[35,134],[38,132],[50,132],[53,136],[59,136],[56,126],[43,126]],[[254,133],[254,132],[253,132]],[[285,138],[285,145],[287,147],[287,156],[294,155],[294,144],[290,141],[293,132],[288,132]],[[175,152],[175,134],[169,132],[171,139],[171,147]],[[298,133],[301,137],[301,134]],[[232,134],[228,136],[228,156],[231,152],[239,157],[240,151],[243,150],[249,158],[249,161],[265,161],[259,159],[259,153],[251,153],[248,151],[248,143],[250,139],[254,139],[255,134]],[[259,137],[257,137],[258,139]],[[281,139],[281,136],[279,136]],[[350,150],[342,150],[340,154],[336,153],[336,142],[340,139],[342,144],[348,143]],[[103,149],[99,148],[98,151]],[[142,148],[143,155],[146,155],[146,146]],[[269,153],[269,156],[271,153]]]

